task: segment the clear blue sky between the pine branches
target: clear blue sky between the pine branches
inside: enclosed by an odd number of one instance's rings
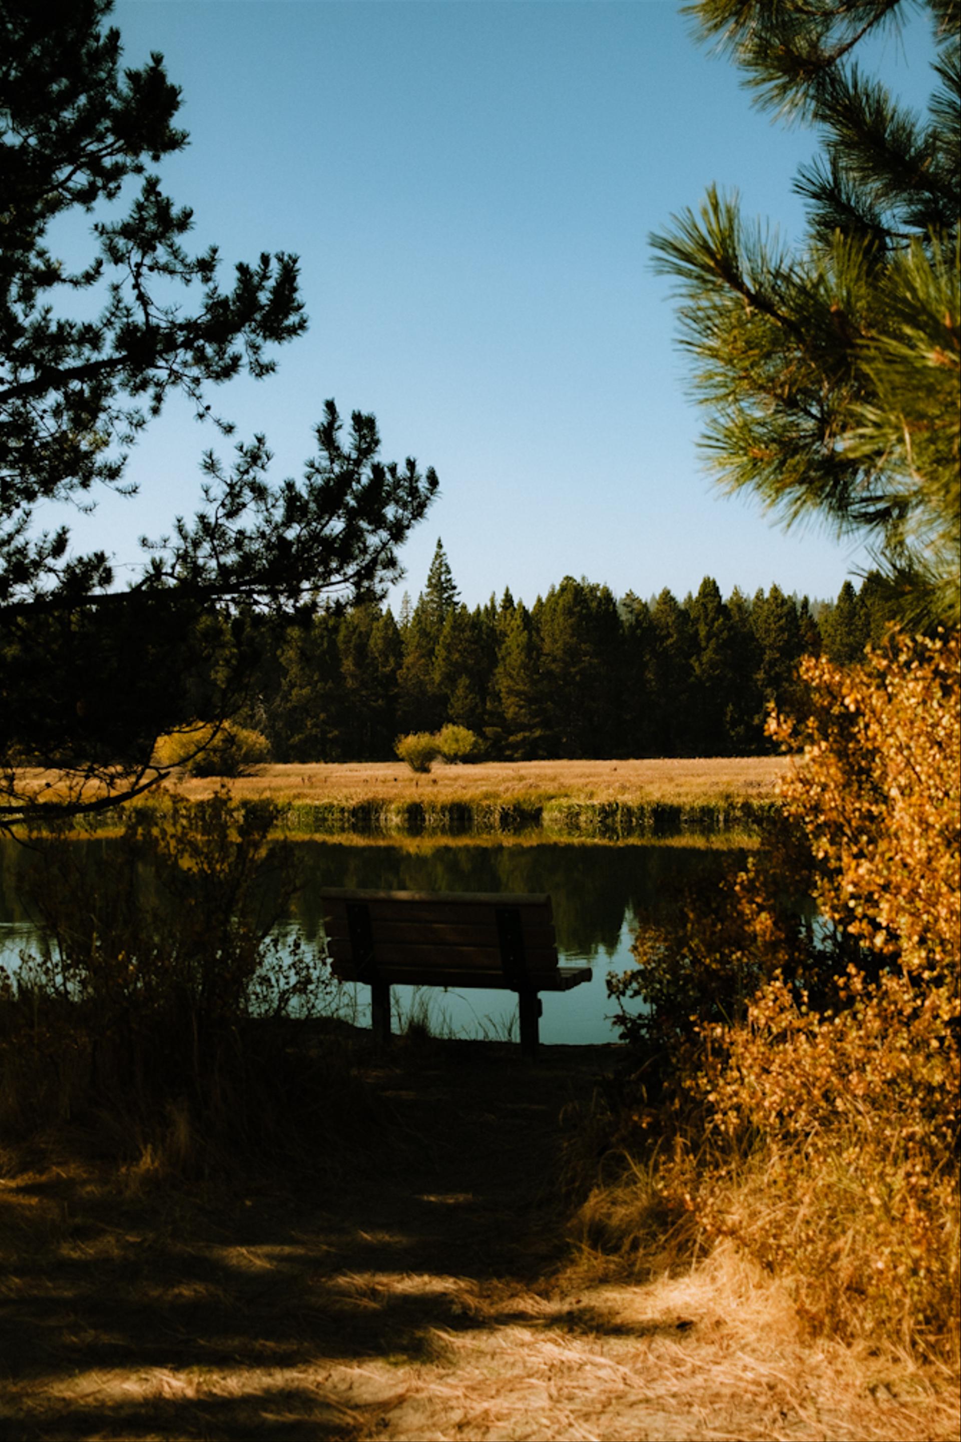
[[[162,176],[196,247],[302,257],[307,336],[216,407],[267,433],[277,480],[326,397],[440,474],[394,604],[439,535],[472,606],[567,574],[619,596],[706,574],[834,596],[864,564],[822,531],[785,536],[698,459],[648,232],[719,182],[799,234],[791,180],[815,141],[752,110],[671,0],[120,0],[115,23],[127,63],[162,50],[183,87],[192,143]],[[926,94],[895,40],[882,58]],[[118,578],[139,535],[192,510],[208,446],[229,451],[186,407],[150,427],[140,497],[97,521]]]

